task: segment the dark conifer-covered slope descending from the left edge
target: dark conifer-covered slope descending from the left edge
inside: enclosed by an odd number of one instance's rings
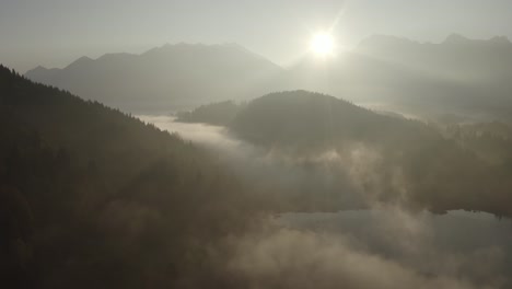
[[[4,67],[0,139],[1,288],[225,287],[206,250],[251,209],[203,151]]]

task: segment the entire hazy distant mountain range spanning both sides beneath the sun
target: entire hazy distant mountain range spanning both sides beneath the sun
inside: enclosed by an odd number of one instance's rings
[[[439,44],[375,35],[331,59],[281,68],[235,45],[165,45],[141,55],[82,57],[28,79],[135,113],[179,111],[304,89],[417,115],[457,113],[511,120],[512,44],[507,37]]]

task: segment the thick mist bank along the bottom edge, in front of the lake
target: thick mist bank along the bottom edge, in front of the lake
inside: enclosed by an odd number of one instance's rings
[[[244,236],[233,246],[228,266],[247,288],[477,288],[456,275],[419,274],[356,248],[342,235],[278,229]]]

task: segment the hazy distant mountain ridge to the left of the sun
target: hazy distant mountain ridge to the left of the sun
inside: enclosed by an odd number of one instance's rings
[[[176,44],[141,55],[82,57],[63,69],[31,70],[31,80],[83,99],[138,113],[168,112],[203,102],[251,99],[281,68],[237,45]]]

